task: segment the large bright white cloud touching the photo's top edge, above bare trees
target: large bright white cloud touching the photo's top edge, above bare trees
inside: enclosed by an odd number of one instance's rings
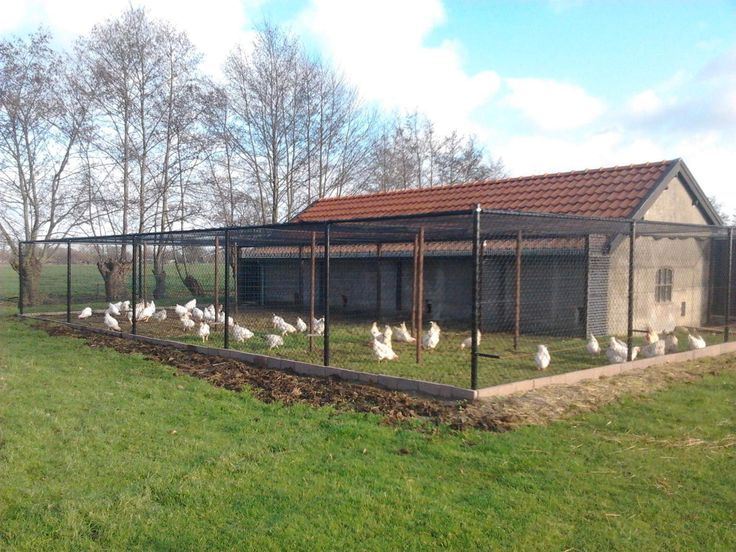
[[[368,100],[418,110],[440,130],[477,131],[473,111],[498,90],[493,71],[469,74],[458,42],[428,45],[440,0],[313,0],[298,25],[311,33]]]

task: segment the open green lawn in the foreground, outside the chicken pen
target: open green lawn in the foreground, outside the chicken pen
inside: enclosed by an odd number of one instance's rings
[[[733,371],[549,427],[417,432],[8,318],[0,342],[0,548],[736,549]]]

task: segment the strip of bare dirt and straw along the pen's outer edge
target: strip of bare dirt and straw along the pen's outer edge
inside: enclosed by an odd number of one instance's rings
[[[180,374],[205,379],[218,387],[233,391],[247,387],[264,402],[304,403],[317,407],[331,405],[337,410],[378,414],[390,424],[423,420],[432,424],[448,424],[456,429],[474,427],[505,431],[524,425],[543,425],[597,410],[624,395],[645,395],[673,383],[692,383],[708,374],[736,370],[736,356],[724,355],[635,370],[575,385],[552,385],[509,397],[492,397],[473,403],[444,402],[337,378],[316,378],[257,368],[241,361],[89,333],[61,324],[43,321],[35,324],[49,335],[80,337],[93,348],[110,347],[122,353],[139,353],[175,367]]]

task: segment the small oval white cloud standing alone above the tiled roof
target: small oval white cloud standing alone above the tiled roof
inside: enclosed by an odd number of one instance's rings
[[[605,104],[575,84],[547,79],[506,79],[504,103],[520,110],[543,130],[569,130],[590,124]]]

